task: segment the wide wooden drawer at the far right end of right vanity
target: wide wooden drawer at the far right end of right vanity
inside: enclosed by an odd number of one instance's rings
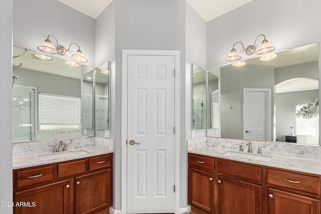
[[[278,186],[320,194],[319,177],[268,169],[267,182]]]

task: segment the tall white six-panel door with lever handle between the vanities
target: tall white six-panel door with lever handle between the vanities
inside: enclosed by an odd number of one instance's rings
[[[127,59],[127,213],[175,211],[175,57]]]

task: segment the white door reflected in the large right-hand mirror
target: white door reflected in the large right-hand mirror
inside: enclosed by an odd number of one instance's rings
[[[269,89],[244,89],[243,138],[270,140]]]

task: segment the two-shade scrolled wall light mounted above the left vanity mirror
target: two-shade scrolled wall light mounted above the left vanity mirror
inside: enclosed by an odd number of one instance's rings
[[[51,41],[49,40],[49,36],[52,36],[53,38],[55,38],[57,45],[54,46]],[[67,54],[67,52],[72,53],[72,51],[70,50],[71,45],[77,45],[78,46],[78,51],[71,55],[71,58],[77,62],[80,63],[88,63],[88,60],[86,59],[86,57],[84,56],[84,54],[81,52],[80,47],[77,43],[71,43],[69,45],[69,48],[66,49],[63,45],[60,45],[58,43],[58,40],[55,36],[49,34],[47,39],[45,40],[45,42],[43,42],[40,46],[38,46],[38,50],[45,52],[47,54],[59,54],[62,56],[65,56]]]

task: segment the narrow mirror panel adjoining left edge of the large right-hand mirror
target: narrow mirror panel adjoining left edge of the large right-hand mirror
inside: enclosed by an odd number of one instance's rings
[[[208,88],[208,136],[221,136],[221,110],[220,110],[220,68],[213,68],[207,71]]]

